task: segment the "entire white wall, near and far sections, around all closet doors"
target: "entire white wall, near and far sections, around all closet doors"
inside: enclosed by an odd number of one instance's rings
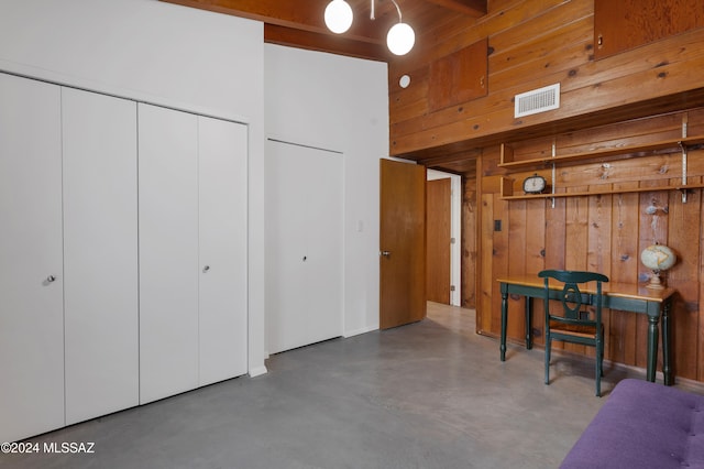
[[[265,137],[344,153],[344,334],[378,327],[385,63],[265,46],[260,22],[156,0],[0,0],[0,70],[249,124],[253,375],[266,371]]]

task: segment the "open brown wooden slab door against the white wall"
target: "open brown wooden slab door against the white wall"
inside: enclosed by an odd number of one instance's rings
[[[380,327],[426,317],[426,168],[381,160]]]

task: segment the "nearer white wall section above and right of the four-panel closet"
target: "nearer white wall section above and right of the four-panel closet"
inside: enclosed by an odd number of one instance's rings
[[[0,0],[0,70],[249,124],[249,370],[265,372],[262,23],[156,0]]]

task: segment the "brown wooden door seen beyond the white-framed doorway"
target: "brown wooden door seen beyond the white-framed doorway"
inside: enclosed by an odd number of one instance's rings
[[[428,181],[426,185],[426,298],[450,304],[450,178]]]

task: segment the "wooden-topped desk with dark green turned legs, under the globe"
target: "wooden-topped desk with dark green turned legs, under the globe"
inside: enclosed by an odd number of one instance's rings
[[[526,297],[526,348],[532,348],[531,298],[543,297],[543,280],[538,275],[510,275],[497,279],[502,291],[502,342],[501,358],[506,360],[506,323],[508,320],[508,295]],[[550,298],[558,299],[562,286],[550,284]],[[595,288],[595,285],[594,285]],[[662,323],[662,373],[664,384],[673,383],[670,366],[670,306],[674,288],[649,290],[637,284],[603,283],[605,294],[603,307],[648,315],[648,381],[656,380],[658,358],[658,324]],[[595,290],[584,288],[585,293]]]

